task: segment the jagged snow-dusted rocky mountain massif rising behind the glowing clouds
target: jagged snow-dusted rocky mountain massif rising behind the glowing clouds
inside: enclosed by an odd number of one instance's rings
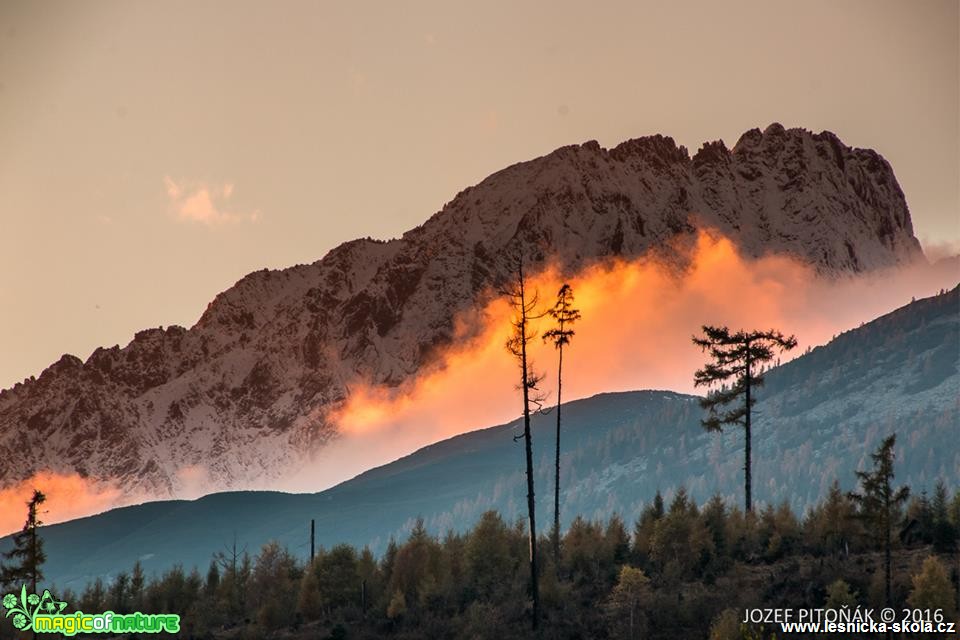
[[[251,273],[190,329],[141,331],[86,362],[65,355],[0,392],[0,487],[42,469],[152,496],[182,470],[209,489],[282,475],[335,437],[358,378],[396,385],[483,302],[522,245],[531,269],[640,256],[709,225],[746,255],[786,253],[825,275],[922,260],[890,165],[829,132],[779,124],[693,158],[663,136],[557,149],[465,189],[402,238]]]

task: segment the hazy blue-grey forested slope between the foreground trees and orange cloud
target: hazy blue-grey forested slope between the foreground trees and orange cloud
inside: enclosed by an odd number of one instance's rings
[[[755,500],[801,510],[896,432],[897,481],[919,492],[938,478],[960,486],[960,288],[918,300],[773,369],[754,431]],[[693,396],[602,394],[564,409],[563,520],[617,512],[631,521],[658,490],[742,502],[742,434],[703,431]],[[534,419],[538,517],[548,521],[553,416]],[[308,553],[318,544],[382,550],[422,516],[431,531],[463,530],[487,509],[525,509],[517,422],[463,434],[316,494],[234,492],[117,509],[45,527],[47,577],[76,586],[140,559],[148,571],[205,566],[236,538],[255,553],[268,540]],[[9,544],[9,539],[0,547]]]

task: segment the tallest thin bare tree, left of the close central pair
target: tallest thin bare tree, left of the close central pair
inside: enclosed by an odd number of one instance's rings
[[[542,376],[534,373],[530,361],[529,345],[535,340],[536,331],[530,326],[532,321],[544,316],[537,311],[539,298],[537,292],[530,292],[527,288],[527,277],[524,273],[523,253],[517,252],[514,256],[513,274],[507,288],[503,291],[513,310],[510,320],[512,331],[507,340],[507,351],[516,359],[520,369],[520,384],[518,389],[523,394],[523,443],[526,448],[527,459],[527,513],[530,521],[530,594],[533,599],[533,628],[537,629],[540,621],[540,574],[537,566],[537,518],[536,501],[533,490],[533,440],[530,435],[531,405],[539,405],[543,398],[537,393],[537,385]]]

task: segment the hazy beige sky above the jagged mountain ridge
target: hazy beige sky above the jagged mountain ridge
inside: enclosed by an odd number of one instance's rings
[[[0,388],[570,143],[773,121],[960,242],[958,3],[0,3]]]

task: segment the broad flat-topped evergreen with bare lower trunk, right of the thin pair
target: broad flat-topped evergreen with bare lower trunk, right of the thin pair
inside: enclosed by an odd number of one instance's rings
[[[722,431],[726,425],[743,426],[744,504],[746,510],[751,511],[751,409],[756,403],[753,390],[763,384],[761,367],[773,360],[776,351],[789,351],[796,347],[797,339],[794,336],[785,337],[772,329],[730,333],[727,327],[704,325],[703,336],[694,336],[693,343],[708,353],[711,359],[703,369],[694,373],[694,386],[711,388],[721,385],[700,401],[701,406],[709,410],[707,418],[701,421],[704,428],[708,431]],[[726,408],[741,398],[741,405]]]

